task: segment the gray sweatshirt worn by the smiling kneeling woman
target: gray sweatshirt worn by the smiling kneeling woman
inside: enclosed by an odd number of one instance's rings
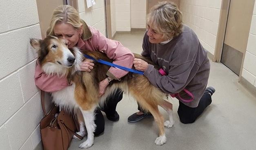
[[[194,100],[184,102],[178,99],[189,107],[197,107],[207,86],[210,63],[194,31],[183,25],[183,32],[166,44],[150,43],[146,31],[142,48],[141,55],[150,57],[167,73],[162,76],[149,64],[144,75],[151,84],[167,94],[179,93],[183,99],[190,99],[183,90],[186,88],[194,95]]]

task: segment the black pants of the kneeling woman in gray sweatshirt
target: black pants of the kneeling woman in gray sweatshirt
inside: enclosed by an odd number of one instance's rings
[[[195,108],[191,108],[179,101],[178,115],[179,115],[180,121],[183,124],[193,123],[203,113],[203,111],[209,104],[211,104],[211,95],[209,93],[205,93],[202,96],[198,106]],[[138,105],[138,110],[142,111],[142,109],[140,108],[140,105]]]

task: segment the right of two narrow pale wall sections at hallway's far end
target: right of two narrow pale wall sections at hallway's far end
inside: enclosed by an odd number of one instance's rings
[[[146,0],[131,0],[131,28],[146,28]]]

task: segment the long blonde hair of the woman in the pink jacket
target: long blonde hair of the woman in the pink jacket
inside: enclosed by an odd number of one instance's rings
[[[79,17],[79,13],[76,9],[70,5],[60,5],[56,7],[53,11],[53,15],[51,17],[51,22],[49,29],[47,30],[47,35],[54,35],[54,26],[60,22],[69,23],[75,29],[81,27],[82,22]],[[84,33],[84,32],[83,32]]]

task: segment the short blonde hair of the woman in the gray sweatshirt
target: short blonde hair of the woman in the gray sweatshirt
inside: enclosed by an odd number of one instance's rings
[[[170,39],[182,32],[182,13],[173,2],[159,2],[148,14],[147,24],[163,33],[163,38]]]

